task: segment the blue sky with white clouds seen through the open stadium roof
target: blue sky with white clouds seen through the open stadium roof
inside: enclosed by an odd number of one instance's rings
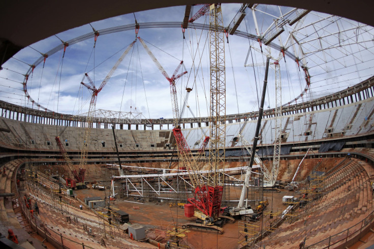
[[[195,6],[194,12],[200,7]],[[239,4],[223,5],[224,23],[227,25],[237,10]],[[257,6],[256,17],[260,32],[271,25],[275,17],[287,13],[292,8],[277,6]],[[246,17],[239,30],[255,34],[252,11],[246,10]],[[184,7],[172,7],[135,13],[139,23],[143,22],[181,22]],[[322,20],[323,21],[318,21]],[[134,23],[134,14],[122,15],[106,20],[93,22],[97,29]],[[207,23],[208,17],[201,17],[197,22]],[[311,25],[311,23],[314,23]],[[295,27],[298,25],[298,27]],[[305,61],[311,77],[311,94],[303,100],[319,98],[349,85],[360,82],[371,76],[371,60],[373,59],[372,27],[355,21],[327,14],[309,13],[302,23],[292,27],[286,25],[281,39],[275,39],[276,44],[285,43],[293,31],[294,36],[302,43],[306,53]],[[341,34],[337,34],[340,30]],[[89,24],[56,34],[64,41],[92,32]],[[185,87],[194,87],[188,104],[197,116],[208,115],[209,107],[209,55],[207,33],[198,29],[188,29],[183,40],[181,28],[152,28],[140,29],[138,34],[149,42],[148,47],[160,61],[166,72],[171,76],[179,64],[184,61],[184,67],[189,72],[177,81],[179,109],[185,95]],[[22,92],[23,76],[29,65],[41,55],[59,45],[61,42],[52,36],[31,45],[4,64],[0,72],[0,99],[23,106],[32,106],[27,102]],[[27,82],[28,93],[42,106],[53,111],[80,114],[88,110],[90,92],[80,84],[84,73],[99,87],[105,76],[115,64],[124,49],[135,39],[135,30],[99,36],[95,49],[93,39],[89,39],[67,48],[64,59],[62,51],[55,53],[46,60],[45,67],[39,65]],[[285,45],[285,44],[284,44]],[[264,67],[244,67],[250,46],[253,54],[248,57],[247,64],[261,64],[265,54],[279,58],[282,80],[283,103],[297,97],[305,87],[304,74],[299,71],[295,61],[279,57],[279,51],[266,49],[264,53],[258,42],[230,36],[229,44],[225,40],[226,50],[226,109],[227,113],[248,112],[257,110],[258,91],[262,89]],[[295,42],[290,42],[288,50],[294,54],[300,51]],[[330,49],[325,49],[330,47]],[[323,48],[323,49],[322,49]],[[39,52],[37,52],[37,51]],[[191,52],[197,54],[195,61]],[[253,58],[253,60],[252,60]],[[18,59],[18,60],[17,60]],[[23,62],[21,62],[21,61]],[[201,61],[201,64],[200,64]],[[180,71],[181,72],[181,71]],[[268,95],[265,106],[274,107],[274,71],[269,71]],[[85,83],[88,83],[85,80]],[[257,90],[258,89],[258,90]],[[299,100],[301,101],[301,100]],[[171,99],[168,81],[153,64],[148,54],[137,42],[122,61],[107,85],[99,93],[96,109],[114,111],[140,111],[147,118],[171,118]],[[184,117],[191,114],[185,112]]]

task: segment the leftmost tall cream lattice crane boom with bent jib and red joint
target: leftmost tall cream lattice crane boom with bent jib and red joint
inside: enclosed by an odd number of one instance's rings
[[[134,46],[135,42],[136,41],[132,42],[127,47],[127,49],[122,53],[122,55],[119,57],[119,59],[114,64],[113,68],[109,71],[108,75],[105,77],[103,82],[100,84],[99,88],[96,88],[95,83],[91,80],[91,78],[88,76],[87,73],[84,74],[83,80],[81,82],[82,85],[84,85],[85,87],[87,87],[88,90],[91,91],[91,101],[89,103],[87,119],[84,125],[84,136],[83,136],[81,157],[80,157],[80,162],[79,162],[79,178],[82,184],[84,184],[84,174],[85,174],[86,165],[87,165],[89,134],[92,128],[92,119],[93,119],[93,114],[95,113],[95,109],[96,109],[96,101],[98,98],[98,94],[103,89],[103,87],[108,83],[110,77],[114,74],[119,64],[122,62],[124,57],[129,53],[130,49]],[[89,84],[86,84],[83,82],[85,78],[87,78]]]

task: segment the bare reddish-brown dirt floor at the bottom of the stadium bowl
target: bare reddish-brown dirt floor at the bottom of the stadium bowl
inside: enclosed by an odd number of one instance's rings
[[[232,186],[230,191],[231,198],[237,200],[237,198],[240,196],[240,186]],[[93,196],[104,198],[105,196],[109,195],[109,190],[99,191],[85,189],[74,191],[74,193],[79,199],[83,200],[86,197]],[[264,199],[269,200],[267,210],[284,210],[285,206],[282,205],[282,197],[284,195],[292,195],[292,193],[288,191],[282,191],[281,193],[264,193]],[[135,200],[134,197],[129,197],[124,200],[117,199],[111,204],[120,210],[129,213],[130,223],[138,223],[149,228],[150,230],[148,236],[153,239],[155,239],[158,234],[152,232],[152,228],[162,227],[163,229],[166,229],[169,227],[169,229],[171,229],[174,226],[180,227],[185,223],[194,222],[191,220],[191,218],[186,218],[184,216],[183,208],[169,207],[168,203],[165,202],[141,203]],[[231,206],[235,205],[237,205],[237,202],[232,202]],[[233,224],[224,224],[223,234],[212,234],[189,230],[189,232],[184,233],[185,237],[180,242],[180,245],[188,245],[191,248],[236,248],[239,238],[238,224],[238,220]],[[166,241],[164,240],[164,242]]]

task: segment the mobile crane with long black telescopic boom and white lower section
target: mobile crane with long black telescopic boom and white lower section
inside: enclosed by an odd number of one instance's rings
[[[240,216],[242,220],[246,219],[245,215],[255,213],[254,210],[251,208],[251,206],[248,206],[248,203],[247,203],[248,200],[246,200],[246,199],[244,200],[244,197],[245,197],[247,189],[249,188],[249,181],[250,181],[251,174],[252,174],[253,161],[255,159],[255,154],[256,154],[255,151],[256,151],[256,147],[257,147],[257,141],[259,139],[258,137],[259,137],[259,133],[260,133],[262,113],[263,113],[263,110],[264,110],[264,101],[265,101],[268,71],[269,71],[269,57],[266,60],[264,86],[263,86],[263,90],[262,90],[261,104],[260,104],[260,108],[259,108],[259,116],[258,116],[258,119],[257,119],[255,137],[254,137],[254,140],[253,140],[253,148],[252,148],[251,158],[247,162],[248,167],[247,167],[246,172],[245,172],[243,188],[241,189],[238,206],[229,209],[229,212],[230,212],[231,216],[233,216],[233,217],[234,216]],[[263,203],[261,209],[263,209],[263,207],[264,207],[264,203]]]

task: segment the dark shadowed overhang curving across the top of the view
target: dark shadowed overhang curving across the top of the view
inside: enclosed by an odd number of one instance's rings
[[[240,1],[226,0],[222,3],[238,2]],[[0,65],[30,44],[93,21],[138,11],[199,3],[201,2],[194,0],[113,0],[110,4],[101,0],[65,1],[63,4],[49,0],[22,1],[21,4],[17,1],[5,1],[0,9]],[[259,0],[256,3],[329,13],[374,26],[373,1]],[[181,21],[182,19],[183,16],[180,17]]]

